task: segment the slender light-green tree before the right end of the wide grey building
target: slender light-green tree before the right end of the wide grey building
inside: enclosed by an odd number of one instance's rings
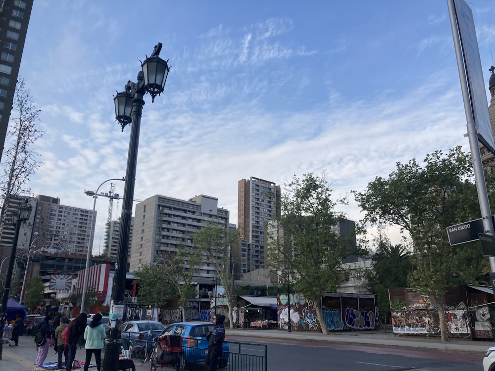
[[[240,243],[240,235],[239,231],[228,230],[214,221],[208,221],[202,229],[193,234],[193,243],[205,255],[205,261],[213,265],[225,291],[230,328],[234,328],[232,311],[235,272],[233,267],[237,260],[233,247]]]

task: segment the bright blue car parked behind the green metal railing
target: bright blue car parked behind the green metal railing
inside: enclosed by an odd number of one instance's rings
[[[182,341],[181,370],[186,370],[189,364],[203,363],[208,350],[206,335],[213,330],[211,322],[179,322],[169,325],[162,335],[180,335]],[[229,344],[223,343],[222,357],[218,360],[218,367],[224,368],[229,360]]]

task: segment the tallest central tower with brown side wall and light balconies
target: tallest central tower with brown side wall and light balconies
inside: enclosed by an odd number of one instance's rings
[[[238,256],[241,259],[241,274],[259,268],[267,268],[265,260],[264,223],[280,214],[280,185],[250,177],[239,181],[238,227],[241,244]],[[245,251],[243,251],[245,250]]]

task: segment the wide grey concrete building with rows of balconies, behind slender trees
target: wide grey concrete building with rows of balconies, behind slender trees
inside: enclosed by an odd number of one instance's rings
[[[162,254],[177,251],[180,244],[192,246],[192,234],[215,221],[226,229],[229,211],[218,207],[218,198],[200,194],[189,200],[154,195],[136,205],[131,245],[130,272],[153,264]],[[214,278],[209,263],[199,267],[199,277]]]

